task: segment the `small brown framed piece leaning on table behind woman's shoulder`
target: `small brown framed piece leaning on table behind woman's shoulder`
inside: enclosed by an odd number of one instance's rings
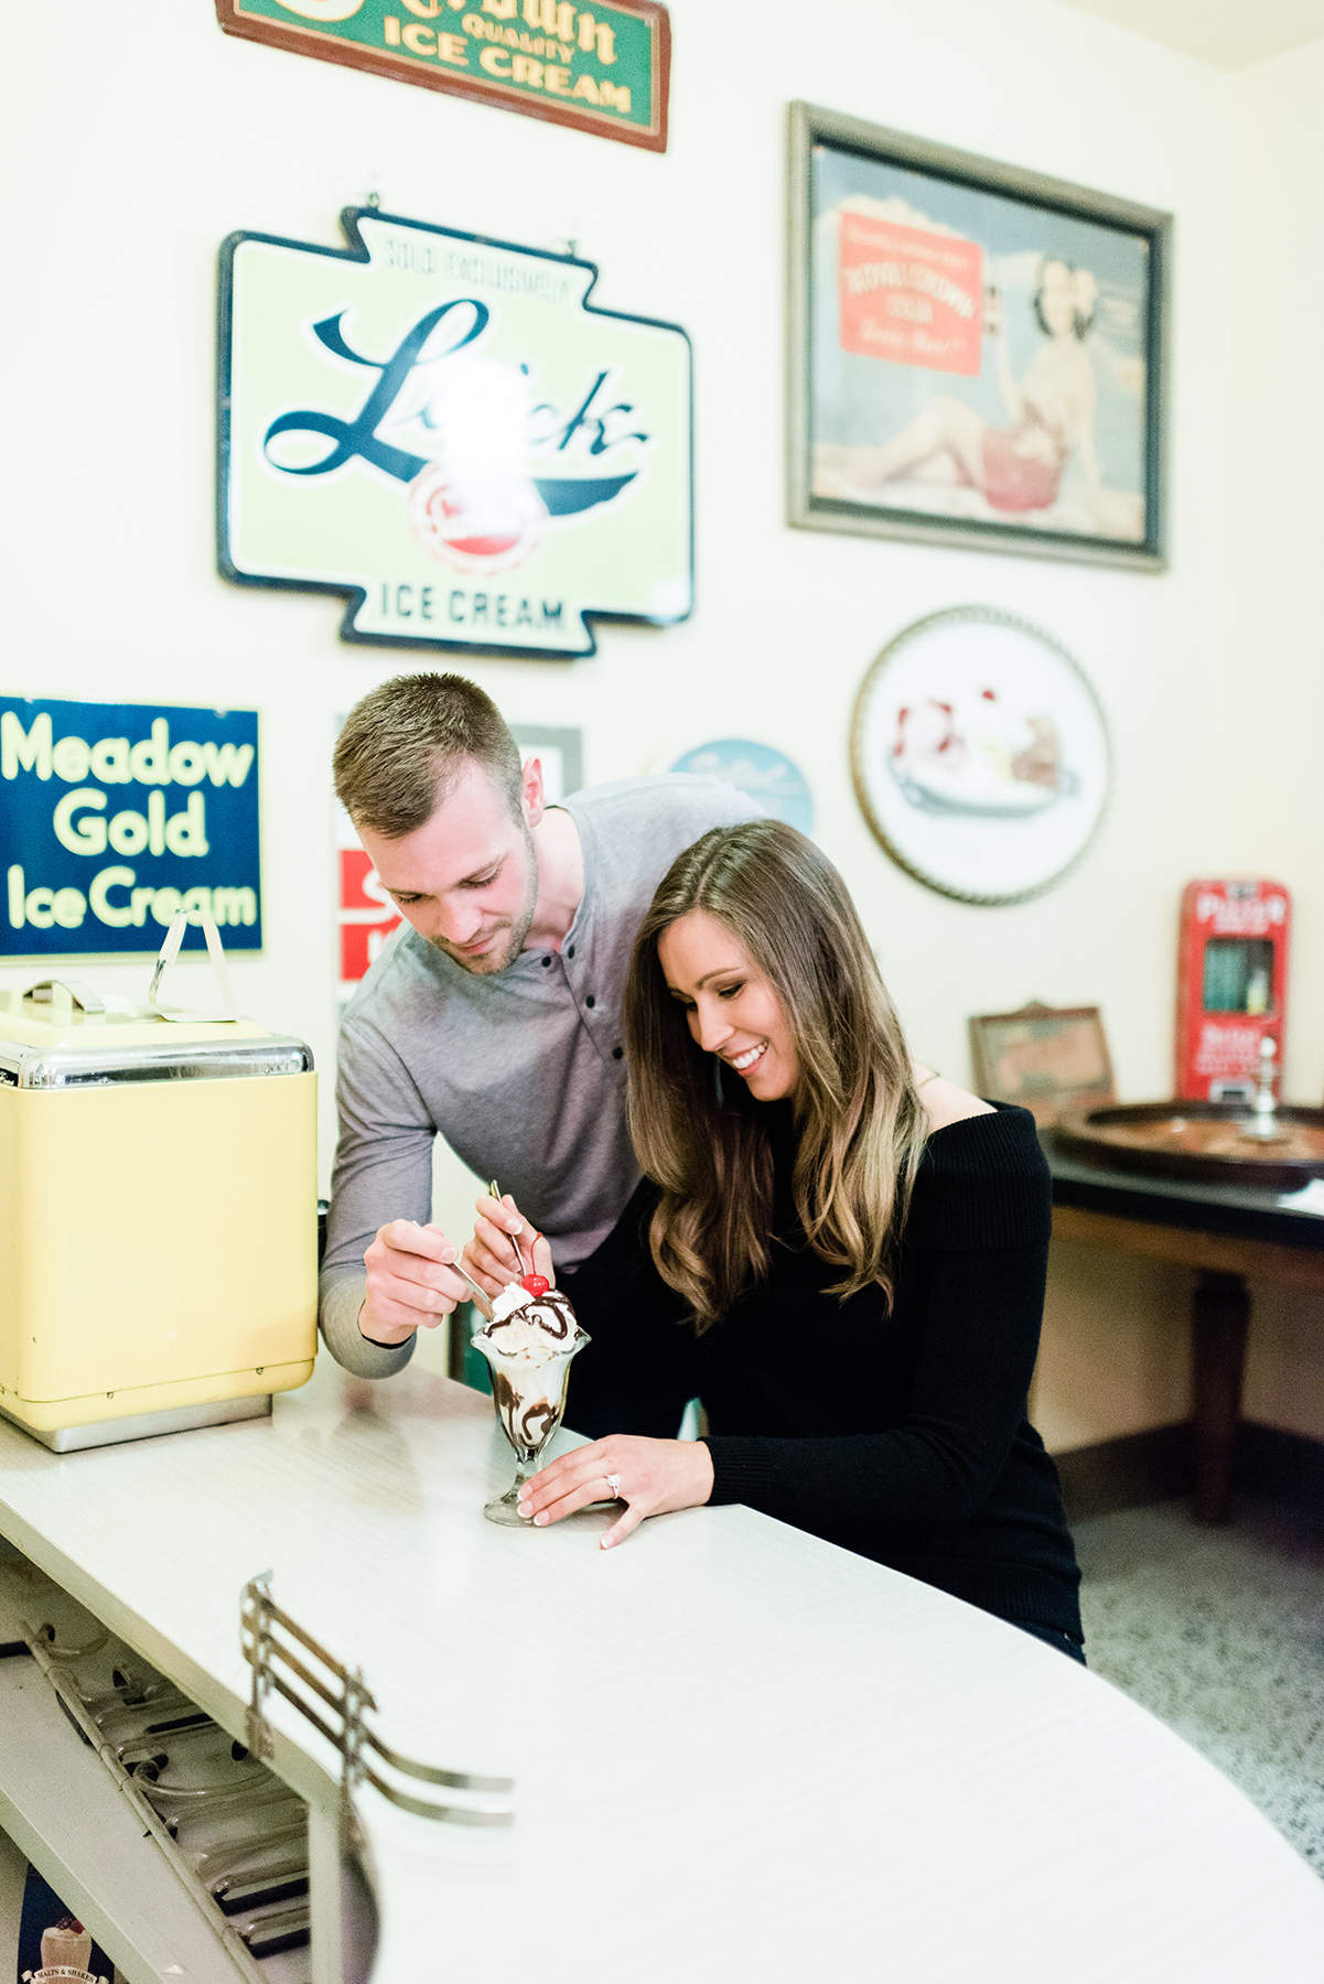
[[[975,1014],[971,1065],[979,1095],[1020,1103],[1040,1127],[1064,1109],[1106,1109],[1118,1099],[1098,1006]]]

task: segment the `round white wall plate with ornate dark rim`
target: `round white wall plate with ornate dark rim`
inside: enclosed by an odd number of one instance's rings
[[[863,679],[856,798],[893,861],[961,903],[1022,903],[1094,839],[1112,776],[1098,696],[996,607],[915,621]]]

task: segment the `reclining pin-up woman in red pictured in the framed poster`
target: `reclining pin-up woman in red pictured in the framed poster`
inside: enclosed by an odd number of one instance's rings
[[[1012,377],[1002,323],[1002,300],[989,290],[985,333],[993,339],[998,385],[1010,427],[993,427],[953,393],[939,395],[893,440],[873,452],[875,482],[893,482],[939,466],[947,456],[961,482],[981,490],[991,510],[1024,514],[1058,500],[1066,464],[1076,456],[1090,504],[1102,512],[1100,466],[1094,452],[1094,367],[1086,335],[1094,323],[1098,284],[1084,268],[1044,260],[1034,290],[1034,315],[1044,341],[1024,379]]]

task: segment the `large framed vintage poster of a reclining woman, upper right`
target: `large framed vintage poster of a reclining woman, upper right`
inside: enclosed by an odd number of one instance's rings
[[[1163,569],[1171,216],[808,103],[790,522]]]

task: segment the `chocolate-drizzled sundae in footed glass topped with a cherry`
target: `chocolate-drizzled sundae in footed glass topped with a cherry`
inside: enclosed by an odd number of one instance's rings
[[[570,1359],[590,1337],[580,1329],[566,1296],[544,1276],[526,1274],[502,1288],[492,1302],[490,1321],[472,1341],[492,1367],[496,1417],[520,1462],[512,1488],[488,1502],[482,1514],[490,1522],[524,1528],[516,1510],[520,1486],[562,1423]]]

